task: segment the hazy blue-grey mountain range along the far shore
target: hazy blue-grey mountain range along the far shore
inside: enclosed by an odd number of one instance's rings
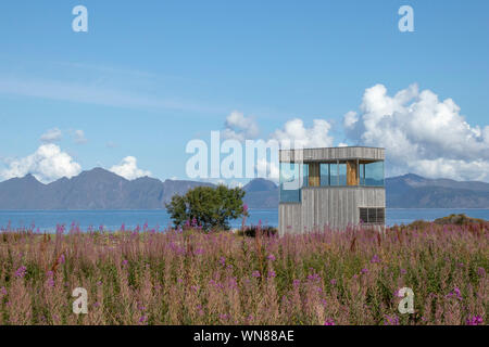
[[[0,209],[161,209],[174,194],[212,183],[143,177],[126,180],[95,168],[43,184],[34,176],[0,182]],[[243,187],[250,208],[277,208],[278,187],[254,179]],[[427,179],[417,175],[386,179],[390,208],[489,208],[489,183]]]

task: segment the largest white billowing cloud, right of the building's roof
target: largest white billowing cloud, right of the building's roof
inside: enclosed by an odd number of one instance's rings
[[[416,85],[393,97],[376,85],[343,126],[351,140],[387,149],[390,174],[488,181],[489,126],[471,126],[460,111],[452,99],[441,101]]]

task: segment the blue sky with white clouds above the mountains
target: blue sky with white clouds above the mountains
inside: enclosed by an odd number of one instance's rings
[[[405,4],[414,31],[398,26]],[[221,131],[385,146],[387,176],[489,182],[488,13],[485,0],[4,2],[0,181],[93,167],[189,179],[187,144]]]

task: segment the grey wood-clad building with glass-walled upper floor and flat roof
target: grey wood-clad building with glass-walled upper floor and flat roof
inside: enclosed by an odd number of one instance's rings
[[[378,147],[279,151],[279,233],[384,226],[384,160]]]

